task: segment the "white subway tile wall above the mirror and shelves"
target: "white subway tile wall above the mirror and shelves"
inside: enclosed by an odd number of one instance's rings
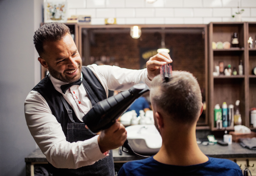
[[[233,22],[244,9],[242,21],[256,22],[256,0],[67,0],[68,16],[90,15],[92,25],[115,17],[117,24],[208,24]]]

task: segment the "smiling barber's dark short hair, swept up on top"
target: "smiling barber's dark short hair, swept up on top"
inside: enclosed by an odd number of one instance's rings
[[[61,38],[70,34],[70,29],[63,23],[45,23],[41,26],[34,35],[34,45],[37,50],[39,56],[41,57],[44,52],[43,44],[44,41],[57,41],[61,40]]]

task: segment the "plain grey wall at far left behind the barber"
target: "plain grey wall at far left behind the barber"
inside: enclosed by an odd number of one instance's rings
[[[42,0],[0,0],[0,176],[25,176],[36,147],[24,101],[40,80],[33,35],[41,21]]]

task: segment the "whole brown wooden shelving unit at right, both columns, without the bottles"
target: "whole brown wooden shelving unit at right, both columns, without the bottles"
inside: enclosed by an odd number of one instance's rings
[[[249,26],[249,27],[248,27]],[[209,125],[211,130],[218,130],[214,126],[214,106],[223,102],[235,105],[240,100],[239,110],[242,125],[250,127],[250,108],[256,107],[256,76],[252,69],[256,66],[256,49],[249,49],[247,40],[249,35],[255,40],[256,23],[209,23]],[[238,33],[239,48],[212,49],[212,42],[230,42],[233,33]],[[254,45],[255,46],[255,45]],[[213,76],[214,67],[224,62],[224,66],[231,64],[239,68],[243,63],[243,75]],[[238,73],[238,72],[237,72]],[[252,128],[252,127],[251,127]],[[234,130],[233,127],[221,130]]]

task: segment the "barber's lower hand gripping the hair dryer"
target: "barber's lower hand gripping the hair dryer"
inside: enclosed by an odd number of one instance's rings
[[[125,127],[116,121],[110,128],[102,130],[98,137],[99,149],[102,153],[122,146],[127,138]]]

